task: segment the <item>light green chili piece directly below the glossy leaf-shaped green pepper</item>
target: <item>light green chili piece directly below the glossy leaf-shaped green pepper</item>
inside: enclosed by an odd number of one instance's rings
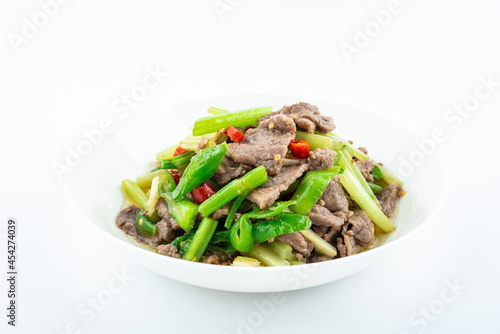
[[[179,200],[172,198],[172,191],[175,188],[174,177],[171,173],[165,172],[160,177],[159,193],[167,202],[170,215],[177,221],[177,224],[186,232],[193,229],[198,215],[198,206],[186,197]]]

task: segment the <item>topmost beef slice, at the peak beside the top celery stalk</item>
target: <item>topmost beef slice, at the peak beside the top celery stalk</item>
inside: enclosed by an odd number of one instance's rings
[[[262,117],[259,122],[263,122],[278,114],[291,117],[299,129],[309,133],[314,133],[315,131],[329,133],[335,129],[333,118],[322,116],[318,107],[305,102],[284,106],[281,110]]]

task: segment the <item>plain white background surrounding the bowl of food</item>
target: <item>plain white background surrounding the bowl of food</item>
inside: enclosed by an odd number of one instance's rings
[[[443,118],[474,94],[479,77],[500,81],[500,4],[401,0],[398,14],[348,62],[341,43],[353,44],[356,29],[388,1],[230,3],[221,19],[212,0],[69,1],[18,52],[8,36],[21,34],[23,17],[32,21],[40,6],[1,3],[0,258],[6,268],[5,226],[15,217],[20,273],[16,328],[6,325],[1,275],[1,332],[236,333],[238,318],[269,299],[195,288],[143,269],[69,206],[51,164],[64,161],[67,146],[112,115],[113,101],[157,65],[169,75],[135,114],[182,98],[285,93],[374,110],[423,137],[446,130],[437,151],[451,192],[434,226],[368,270],[286,293],[247,332],[500,332],[500,86],[457,128]],[[114,270],[134,280],[86,321],[77,308],[107,288]],[[439,304],[446,281],[465,288],[422,321],[419,312]],[[415,314],[418,324],[410,320]]]

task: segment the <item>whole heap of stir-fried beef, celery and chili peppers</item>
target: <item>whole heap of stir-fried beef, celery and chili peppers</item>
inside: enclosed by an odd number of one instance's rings
[[[116,225],[136,241],[188,261],[288,266],[354,255],[394,231],[403,183],[316,106],[208,112],[154,170],[122,182]]]

